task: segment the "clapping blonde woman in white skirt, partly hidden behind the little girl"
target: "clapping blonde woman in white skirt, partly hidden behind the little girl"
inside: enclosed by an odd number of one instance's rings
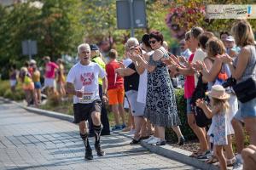
[[[196,69],[201,71],[203,75],[203,80],[208,82],[208,90],[212,88],[212,85],[222,85],[222,83],[228,77],[228,71],[225,69],[225,65],[218,58],[219,55],[225,53],[224,43],[218,39],[217,37],[211,37],[206,44],[207,48],[207,58],[204,60],[204,63],[197,61]],[[230,95],[230,99],[228,99],[230,105],[230,111],[227,112],[227,139],[228,144],[224,146],[225,156],[228,166],[232,166],[235,161],[234,152],[232,150],[232,134],[234,134],[234,129],[231,125],[231,120],[236,114],[237,111],[237,101],[236,96],[230,93],[229,89],[225,89],[227,93]],[[208,135],[212,135],[212,126],[211,125]],[[213,156],[214,157],[214,156]]]

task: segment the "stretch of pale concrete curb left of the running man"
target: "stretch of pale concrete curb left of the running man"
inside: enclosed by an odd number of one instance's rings
[[[15,105],[20,106],[21,108],[25,109],[26,111],[31,111],[34,113],[37,113],[39,115],[44,115],[44,116],[50,116],[50,117],[55,117],[57,119],[61,119],[67,122],[73,122],[73,116],[69,116],[63,113],[55,112],[55,111],[46,111],[38,108],[33,108],[33,107],[27,107],[26,105],[19,104],[13,100],[10,99],[4,99],[3,97],[0,97],[5,102],[13,103]]]

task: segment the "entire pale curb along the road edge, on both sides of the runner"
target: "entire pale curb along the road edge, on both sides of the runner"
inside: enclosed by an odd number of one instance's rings
[[[19,103],[12,101],[10,99],[4,99],[3,97],[0,97],[0,99],[13,103],[15,105],[19,105],[21,108],[26,109],[26,111],[31,111],[40,115],[44,116],[51,116],[55,117],[61,120],[65,120],[68,122],[73,122],[73,116],[68,116],[59,112],[55,111],[45,111],[37,108],[32,108],[32,107],[27,107],[25,105],[20,105]],[[123,135],[127,138],[131,138],[131,135],[127,133],[122,133],[122,132],[117,132],[113,131],[113,133],[118,133],[120,135]],[[194,157],[189,157],[189,155],[192,154],[192,152],[187,151],[187,150],[182,150],[176,147],[173,147],[169,144],[163,145],[163,146],[158,146],[158,145],[153,145],[153,144],[147,144],[146,142],[141,141],[141,145],[150,150],[151,152],[154,152],[160,156],[166,156],[168,158],[171,158],[176,161],[181,161],[183,163],[189,164],[194,167],[198,167],[200,169],[206,169],[206,170],[218,170],[217,166],[214,166],[212,164],[207,164],[205,161],[198,160]]]

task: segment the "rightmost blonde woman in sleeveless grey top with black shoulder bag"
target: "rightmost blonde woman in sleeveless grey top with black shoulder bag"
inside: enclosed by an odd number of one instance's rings
[[[222,55],[221,59],[229,65],[232,77],[237,81],[233,87],[239,100],[239,110],[235,118],[238,120],[242,118],[249,134],[250,144],[256,144],[256,50],[253,30],[247,20],[239,20],[232,27],[232,33],[241,52],[234,62],[228,54]],[[245,82],[249,85],[249,88],[242,92],[242,94],[248,93],[246,98],[239,92],[242,91],[239,88],[244,87],[241,83]]]

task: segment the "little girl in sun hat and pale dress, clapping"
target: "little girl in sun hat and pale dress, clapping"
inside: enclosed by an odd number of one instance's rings
[[[212,118],[211,142],[215,147],[215,154],[218,157],[221,170],[227,169],[227,163],[224,157],[224,146],[228,144],[228,118],[230,110],[228,99],[230,94],[225,92],[221,85],[212,86],[212,90],[207,93],[211,99],[211,109],[203,99],[198,99],[196,105],[200,107],[208,118]]]

